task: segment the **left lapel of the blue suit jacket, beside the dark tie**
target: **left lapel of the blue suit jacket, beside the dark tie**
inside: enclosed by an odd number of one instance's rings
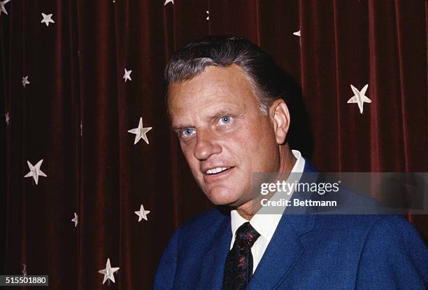
[[[203,256],[201,289],[222,289],[224,263],[226,262],[227,254],[230,249],[231,242],[231,223],[230,216],[224,219],[220,228],[218,228],[216,239],[213,240],[211,247]]]

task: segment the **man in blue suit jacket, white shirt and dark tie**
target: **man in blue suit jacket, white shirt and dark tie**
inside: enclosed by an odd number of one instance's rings
[[[287,143],[281,75],[237,36],[207,37],[171,58],[172,127],[218,207],[176,230],[155,289],[425,289],[427,249],[400,217],[256,214],[264,196],[253,194],[254,173],[314,171]]]

